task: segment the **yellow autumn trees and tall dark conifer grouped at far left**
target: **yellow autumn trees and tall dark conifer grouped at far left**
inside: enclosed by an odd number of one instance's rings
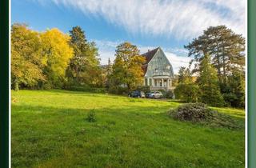
[[[11,27],[12,89],[102,86],[98,49],[75,26],[70,34],[54,28],[44,32],[23,24]]]

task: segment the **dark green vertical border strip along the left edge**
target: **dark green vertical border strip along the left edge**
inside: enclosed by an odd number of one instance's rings
[[[0,167],[9,167],[9,0],[0,1]]]

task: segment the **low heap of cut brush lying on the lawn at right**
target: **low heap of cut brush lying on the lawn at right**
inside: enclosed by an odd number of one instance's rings
[[[211,110],[204,103],[186,103],[178,106],[175,110],[170,110],[170,117],[179,121],[198,122],[207,126],[227,127],[230,129],[241,128],[241,122],[226,114],[220,114]]]

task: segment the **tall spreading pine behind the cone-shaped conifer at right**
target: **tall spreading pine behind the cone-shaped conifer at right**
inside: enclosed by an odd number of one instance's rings
[[[210,57],[210,64],[217,70],[218,86],[222,96],[216,94],[213,104],[219,97],[221,103],[218,106],[222,106],[224,102],[221,97],[223,97],[227,106],[243,107],[245,104],[245,38],[241,34],[235,34],[226,26],[210,26],[185,48],[189,50],[189,56],[194,57],[190,62],[194,62],[193,73],[201,71],[200,64],[206,54]],[[218,88],[210,89],[208,86],[202,90],[202,94],[212,93],[213,90],[216,91]],[[212,101],[207,97],[203,99],[208,103]]]

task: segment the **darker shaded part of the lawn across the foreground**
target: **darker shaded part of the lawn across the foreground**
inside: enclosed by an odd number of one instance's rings
[[[241,152],[234,148],[242,144],[240,138],[244,133],[240,133],[240,130],[216,130],[190,122],[174,121],[167,116],[167,111],[162,111],[168,108],[134,105],[66,109],[14,104],[11,122],[12,166],[177,166],[188,160],[196,162],[193,158],[201,157],[199,152],[189,150],[194,144],[201,144],[210,153],[216,153],[214,157],[218,162],[226,162],[223,160],[223,156],[229,156],[226,152]],[[95,111],[96,122],[86,121],[90,110]],[[222,154],[215,151],[216,143],[223,150]],[[226,143],[232,145],[230,150],[225,151],[225,146],[228,146]],[[196,149],[205,152],[205,147],[196,146]],[[171,152],[174,160],[175,156],[181,157],[181,153],[182,158],[170,162],[170,153],[164,150]],[[193,154],[194,157],[190,158]],[[237,155],[231,154],[230,157],[233,159]],[[199,167],[205,164],[196,163]]]

